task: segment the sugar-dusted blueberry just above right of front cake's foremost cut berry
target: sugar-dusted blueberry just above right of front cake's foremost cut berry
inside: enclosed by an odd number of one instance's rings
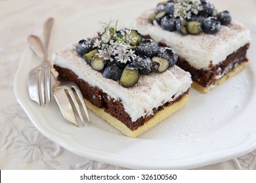
[[[131,63],[131,66],[138,69],[140,74],[148,75],[153,69],[153,62],[145,56],[137,56],[133,63]]]

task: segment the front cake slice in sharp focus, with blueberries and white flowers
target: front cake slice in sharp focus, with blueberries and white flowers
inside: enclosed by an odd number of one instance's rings
[[[135,30],[116,31],[109,25],[98,36],[53,54],[54,69],[79,86],[87,107],[129,137],[188,101],[191,76],[174,65],[176,61],[171,49]]]

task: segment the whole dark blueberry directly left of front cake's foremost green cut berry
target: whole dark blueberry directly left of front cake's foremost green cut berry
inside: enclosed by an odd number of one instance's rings
[[[121,74],[122,70],[115,63],[108,65],[102,73],[105,78],[112,80],[119,80]]]

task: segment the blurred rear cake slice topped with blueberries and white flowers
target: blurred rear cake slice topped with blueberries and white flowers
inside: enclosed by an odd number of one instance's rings
[[[217,12],[213,3],[176,0],[131,20],[129,27],[177,52],[177,65],[190,72],[193,88],[206,93],[247,65],[249,30]]]

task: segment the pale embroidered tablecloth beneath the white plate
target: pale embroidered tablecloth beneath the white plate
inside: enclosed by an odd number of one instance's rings
[[[217,6],[223,3],[226,9],[230,9],[230,3],[236,7],[244,3],[248,11],[256,8],[253,0],[215,2]],[[56,21],[62,21],[76,12],[110,3],[121,1],[0,0],[0,169],[125,169],[77,156],[41,135],[13,92],[16,69],[24,48],[28,46],[26,39],[32,33],[42,33],[44,20],[53,16]],[[234,8],[234,12],[239,13],[239,10],[242,8]],[[256,27],[256,16],[253,15],[244,14],[242,17],[247,19],[250,16],[248,22]],[[198,169],[256,169],[256,150],[240,158]]]

